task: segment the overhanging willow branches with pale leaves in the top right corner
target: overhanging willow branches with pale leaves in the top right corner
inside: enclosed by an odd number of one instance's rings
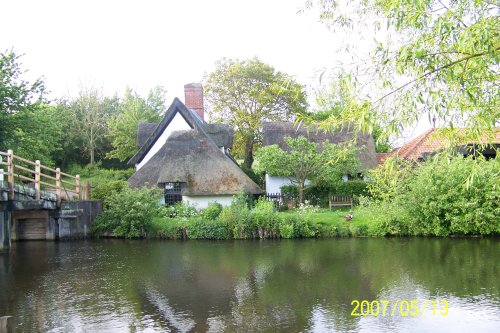
[[[376,96],[374,90],[359,89],[364,108],[350,112],[365,127],[378,119],[387,133],[398,134],[427,113],[443,124],[470,128],[468,137],[477,140],[481,130],[499,125],[498,3],[366,0],[349,1],[347,7],[337,0],[313,2],[335,28],[387,26],[388,41],[397,40],[378,43],[371,65],[356,63],[351,72],[358,80],[369,77],[379,83]],[[363,24],[367,21],[373,26]]]

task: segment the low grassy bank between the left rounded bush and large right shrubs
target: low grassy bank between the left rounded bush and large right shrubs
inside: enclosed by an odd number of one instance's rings
[[[347,221],[344,217],[349,213],[349,209],[315,209],[313,212],[294,209],[269,214],[244,214],[246,216],[236,219],[207,219],[203,216],[156,217],[147,229],[147,237],[220,240],[377,235],[370,226],[368,212],[358,210],[353,219]]]

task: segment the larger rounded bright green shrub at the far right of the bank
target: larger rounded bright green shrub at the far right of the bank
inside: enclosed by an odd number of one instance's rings
[[[500,232],[500,160],[441,156],[422,165],[405,200],[424,235]]]

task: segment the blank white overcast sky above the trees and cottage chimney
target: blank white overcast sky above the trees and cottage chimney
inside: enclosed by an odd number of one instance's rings
[[[223,57],[258,56],[309,88],[333,66],[340,40],[305,0],[0,0],[0,49],[25,54],[28,76],[50,97],[75,96],[80,83],[145,95],[161,85],[169,100],[201,82]]]

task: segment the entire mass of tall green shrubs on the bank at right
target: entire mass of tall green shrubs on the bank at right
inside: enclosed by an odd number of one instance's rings
[[[402,168],[384,176],[378,170],[370,185],[378,230],[391,235],[500,233],[499,165],[498,159],[443,155],[411,172]]]

